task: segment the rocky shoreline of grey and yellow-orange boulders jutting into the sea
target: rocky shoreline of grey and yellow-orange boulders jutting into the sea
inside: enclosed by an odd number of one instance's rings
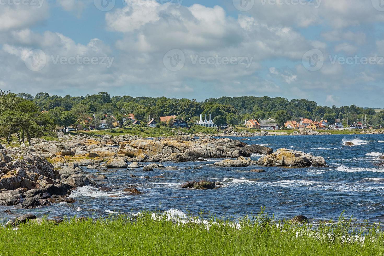
[[[255,161],[249,158],[252,154],[265,156]],[[162,165],[162,162],[223,158],[225,160],[213,165],[326,165],[323,157],[289,149],[279,149],[274,153],[268,147],[248,145],[228,138],[196,139],[179,135],[173,138],[145,139],[131,135],[90,137],[84,134],[73,136],[58,133],[55,141],[33,138],[29,146],[0,149],[0,205],[28,209],[58,202],[73,203],[74,199],[69,197],[71,192],[86,185],[102,191],[112,190],[103,185],[107,178],[105,175],[84,175],[82,167],[95,170],[142,168],[143,172],[150,172],[154,169],[177,170],[175,167]],[[182,187],[212,189],[221,185],[204,180],[190,183],[192,185]],[[136,188],[126,190],[123,192],[140,194]]]

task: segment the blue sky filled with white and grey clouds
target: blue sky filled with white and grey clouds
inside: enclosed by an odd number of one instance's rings
[[[0,89],[384,108],[384,0],[0,0]]]

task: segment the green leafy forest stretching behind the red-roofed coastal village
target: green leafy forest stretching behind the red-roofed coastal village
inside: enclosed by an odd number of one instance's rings
[[[101,116],[113,116],[117,120],[125,114],[133,113],[135,118],[147,122],[161,116],[173,116],[190,124],[199,119],[201,113],[222,116],[228,124],[243,124],[245,119],[266,120],[274,117],[282,127],[287,120],[299,117],[315,120],[335,119],[343,122],[356,122],[367,117],[370,126],[384,126],[384,111],[356,105],[342,107],[319,106],[307,99],[288,100],[283,97],[220,97],[198,102],[196,99],[176,99],[167,97],[111,96],[108,92],[86,96],[64,97],[47,92],[15,94],[0,90],[0,137],[10,138],[16,134],[24,142],[33,137],[52,134],[55,126],[69,127],[82,123],[96,114],[98,118],[89,124],[98,125]],[[107,121],[112,122],[112,121]]]

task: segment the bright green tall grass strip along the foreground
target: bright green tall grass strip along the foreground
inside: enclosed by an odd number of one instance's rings
[[[240,229],[223,221],[209,221],[209,228],[175,224],[150,214],[45,221],[1,229],[0,255],[384,255],[384,235],[376,228],[366,230],[362,243],[348,221],[316,228],[270,221],[244,219]]]

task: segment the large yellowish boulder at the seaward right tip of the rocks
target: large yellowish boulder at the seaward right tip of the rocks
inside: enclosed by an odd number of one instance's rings
[[[325,166],[323,157],[315,157],[301,151],[278,149],[275,153],[261,157],[257,163],[262,166]]]

